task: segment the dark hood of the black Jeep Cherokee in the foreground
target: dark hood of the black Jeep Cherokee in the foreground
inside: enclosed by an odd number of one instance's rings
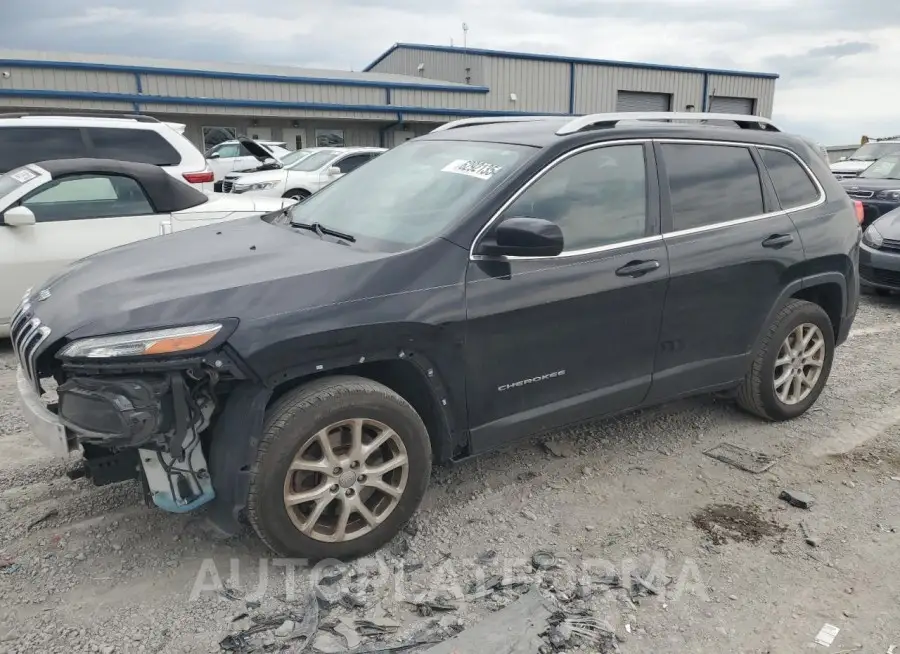
[[[57,338],[260,318],[346,299],[389,256],[242,218],[81,259],[35,287],[35,311]]]

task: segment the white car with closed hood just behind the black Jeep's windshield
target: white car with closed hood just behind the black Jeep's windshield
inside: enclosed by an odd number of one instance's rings
[[[336,179],[356,170],[386,148],[308,148],[298,151],[293,161],[284,161],[282,168],[241,175],[227,175],[222,186],[225,193],[275,198],[290,198],[302,202]]]

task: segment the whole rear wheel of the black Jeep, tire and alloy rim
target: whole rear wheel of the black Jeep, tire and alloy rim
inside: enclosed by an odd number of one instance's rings
[[[738,404],[768,420],[790,420],[809,409],[825,387],[834,359],[834,330],[822,307],[790,300],[769,325]]]

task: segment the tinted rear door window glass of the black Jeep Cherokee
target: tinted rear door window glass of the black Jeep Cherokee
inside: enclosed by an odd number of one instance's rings
[[[675,231],[765,213],[759,169],[748,148],[664,143],[662,152]]]

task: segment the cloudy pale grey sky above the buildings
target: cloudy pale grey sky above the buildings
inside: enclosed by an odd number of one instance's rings
[[[395,42],[778,73],[773,119],[826,145],[900,134],[890,0],[36,0],[2,46],[361,70]]]

